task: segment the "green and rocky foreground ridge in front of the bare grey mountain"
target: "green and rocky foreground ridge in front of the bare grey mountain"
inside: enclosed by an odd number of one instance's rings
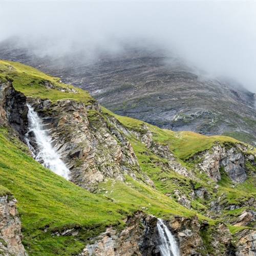
[[[29,254],[159,255],[158,217],[181,255],[253,255],[254,147],[118,116],[59,78],[0,64],[0,179],[18,200]],[[83,188],[28,156],[18,140],[28,132],[26,103]]]

